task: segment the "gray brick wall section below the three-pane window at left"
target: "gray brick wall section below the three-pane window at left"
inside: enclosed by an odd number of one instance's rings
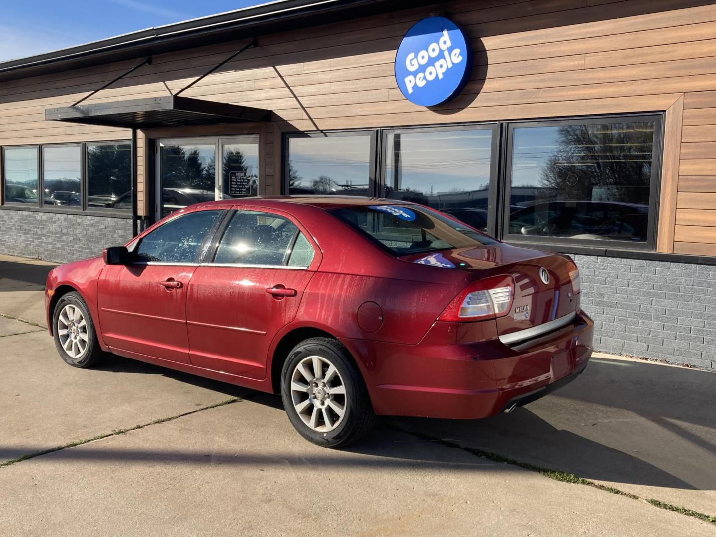
[[[83,214],[0,211],[0,253],[75,261],[132,238],[132,221]]]

